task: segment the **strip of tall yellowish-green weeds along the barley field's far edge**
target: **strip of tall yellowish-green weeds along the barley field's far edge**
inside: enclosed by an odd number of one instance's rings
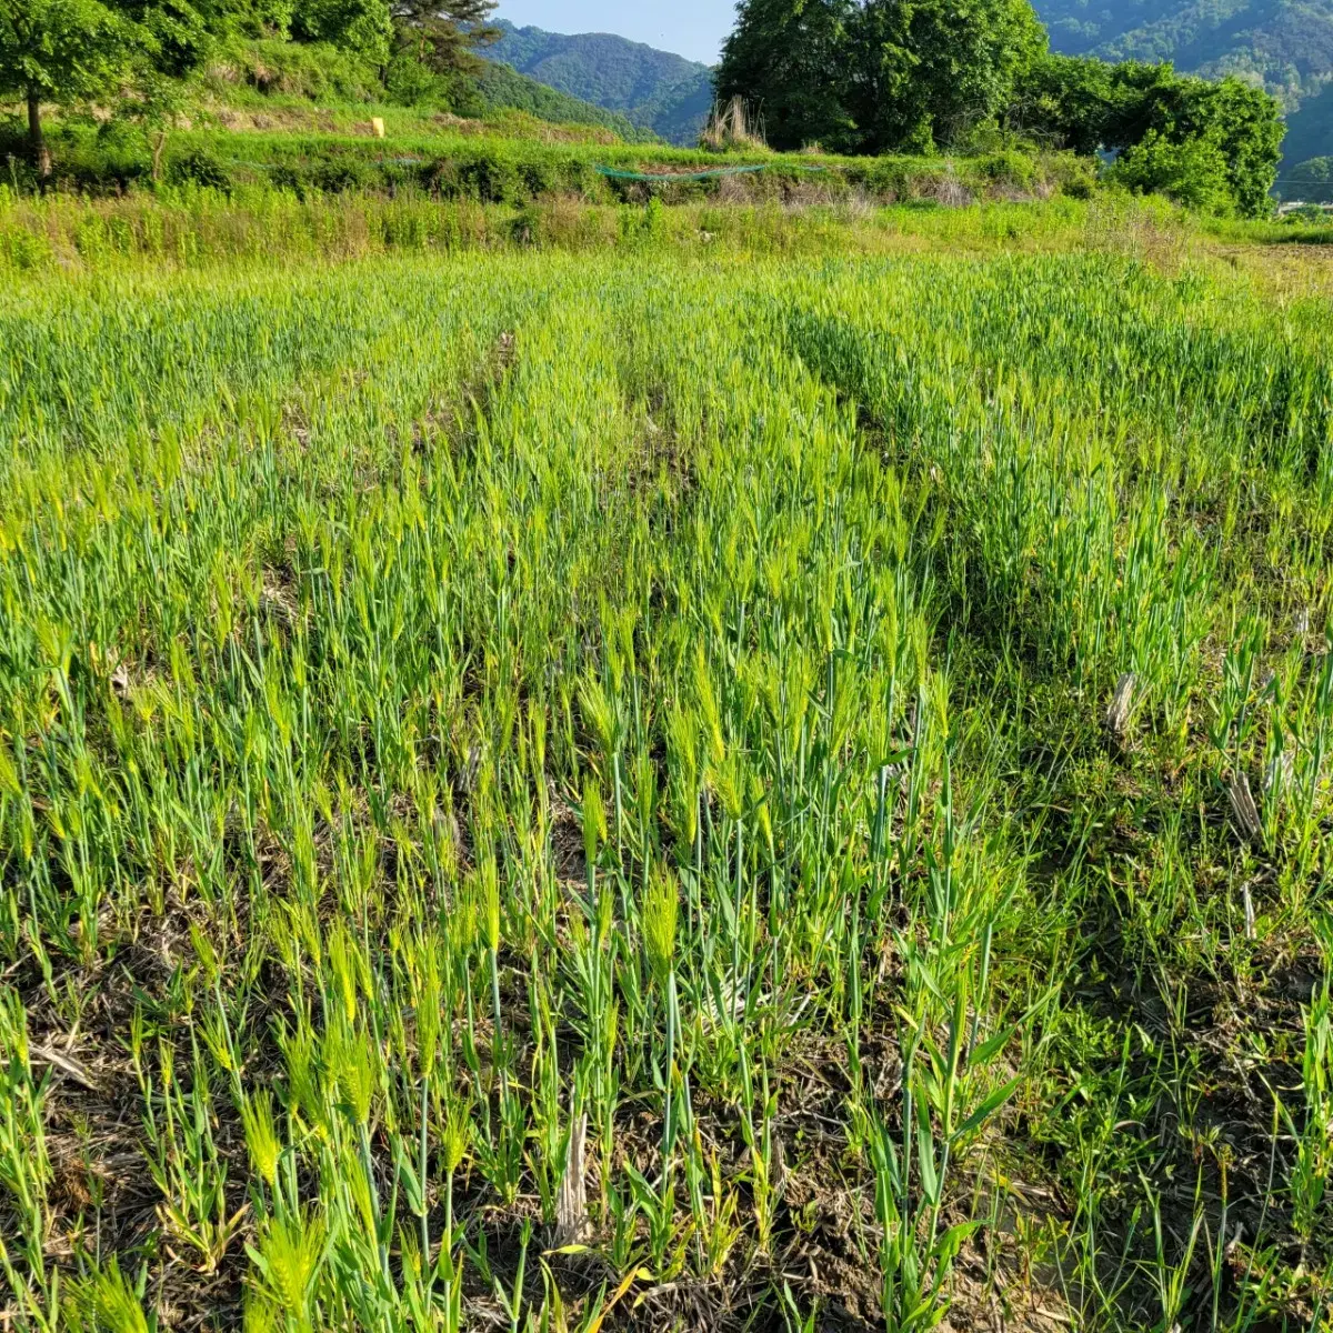
[[[441,204],[268,189],[173,189],[123,200],[15,196],[0,187],[0,269],[120,272],[148,264],[325,263],[395,252],[573,249],[678,255],[882,253],[946,247],[996,252],[1070,248],[1090,233],[1133,244],[1145,227],[1185,236],[1184,220],[1154,204],[1124,208],[1081,200],[944,208],[858,203],[588,204],[572,199],[520,207]]]

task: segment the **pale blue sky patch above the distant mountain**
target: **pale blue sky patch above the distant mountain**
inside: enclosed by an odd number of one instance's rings
[[[619,32],[712,64],[732,31],[733,0],[500,0],[497,17],[548,32]]]

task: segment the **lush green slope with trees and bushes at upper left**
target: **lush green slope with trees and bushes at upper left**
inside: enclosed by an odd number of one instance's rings
[[[617,141],[656,137],[479,60],[472,48],[488,36],[491,8],[348,0],[271,13],[248,0],[16,0],[0,13],[0,99],[19,99],[19,115],[0,116],[11,183],[20,184],[21,164],[43,188],[56,179],[157,184],[188,135],[247,117],[256,128],[296,125],[303,104],[320,128],[359,112],[365,133],[372,119],[401,119],[388,107],[419,121],[485,120],[520,137],[525,119],[595,127]],[[556,128],[552,137],[569,135]],[[151,171],[132,169],[145,159]]]

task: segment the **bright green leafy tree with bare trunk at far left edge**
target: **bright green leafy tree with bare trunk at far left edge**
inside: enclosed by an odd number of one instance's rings
[[[5,0],[0,7],[0,96],[28,107],[28,148],[43,181],[51,151],[41,104],[105,95],[129,73],[139,33],[101,0]]]

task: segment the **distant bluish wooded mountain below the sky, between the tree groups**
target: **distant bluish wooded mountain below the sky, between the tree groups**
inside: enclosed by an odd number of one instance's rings
[[[483,55],[551,88],[623,113],[670,143],[692,143],[713,103],[708,65],[604,32],[564,36],[496,24]]]

